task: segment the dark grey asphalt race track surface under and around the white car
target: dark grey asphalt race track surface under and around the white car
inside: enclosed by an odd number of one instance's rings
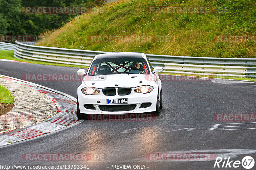
[[[19,79],[23,74],[76,74],[77,69],[0,61],[0,74]],[[76,89],[81,84],[81,81],[31,82],[75,98]],[[213,168],[214,159],[153,160],[156,157],[150,158],[150,153],[151,156],[157,153],[207,153],[215,157],[230,157],[233,162],[242,161],[245,156],[256,160],[255,120],[216,121],[213,118],[214,114],[255,114],[256,83],[220,79],[169,80],[162,81],[162,88],[164,107],[161,117],[156,120],[85,120],[56,133],[1,147],[1,165],[88,165],[90,169],[114,169],[113,165],[142,165],[141,169],[150,170],[244,169],[242,165],[238,168]],[[24,158],[24,154],[34,153],[89,153],[92,157],[83,161]],[[222,163],[223,161],[220,166]],[[138,167],[140,166],[136,169]],[[255,167],[256,165],[252,169]]]

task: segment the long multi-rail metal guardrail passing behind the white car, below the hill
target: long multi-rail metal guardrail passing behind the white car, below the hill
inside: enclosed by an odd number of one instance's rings
[[[103,51],[33,46],[15,41],[14,57],[46,62],[89,66]],[[212,74],[219,76],[256,77],[256,59],[187,57],[147,54],[153,66],[164,72],[183,74]]]

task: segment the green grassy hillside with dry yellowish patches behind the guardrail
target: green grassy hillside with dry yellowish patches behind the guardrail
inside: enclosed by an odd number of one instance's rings
[[[211,7],[211,13],[152,12],[152,7],[161,10],[164,6]],[[252,42],[236,43],[214,41],[214,37],[220,35],[255,36],[256,39],[255,7],[254,0],[117,1],[94,8],[91,13],[77,16],[62,28],[45,33],[45,38],[37,45],[110,52],[255,58],[256,42],[253,39]],[[226,11],[221,12],[221,9]],[[135,35],[152,39],[148,42],[91,42],[92,35],[124,38]],[[164,42],[159,41],[159,36],[164,36]]]

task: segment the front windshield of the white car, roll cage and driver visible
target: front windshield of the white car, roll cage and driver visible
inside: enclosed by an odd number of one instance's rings
[[[88,76],[106,74],[149,74],[148,64],[143,58],[104,58],[94,60]]]

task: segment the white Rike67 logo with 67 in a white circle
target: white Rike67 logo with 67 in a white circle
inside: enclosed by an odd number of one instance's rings
[[[240,160],[231,160],[230,157],[225,157],[222,159],[221,157],[217,157],[214,163],[214,168],[238,168],[239,166],[243,166],[245,169],[251,169],[254,166],[254,159],[251,156],[245,156],[242,161]]]

